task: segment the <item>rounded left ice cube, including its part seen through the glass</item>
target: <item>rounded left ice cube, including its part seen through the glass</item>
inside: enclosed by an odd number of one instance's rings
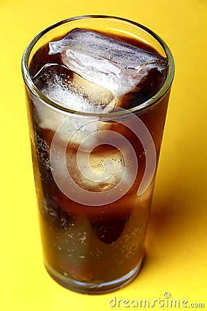
[[[39,91],[60,106],[73,111],[90,113],[108,113],[116,104],[115,94],[92,84],[76,73],[72,73],[66,66],[46,64],[33,77],[34,84]],[[61,140],[69,140],[79,145],[90,133],[99,129],[108,129],[108,123],[100,122],[99,117],[63,113],[52,106],[41,104],[33,98],[37,111],[37,122],[43,129],[57,131]],[[93,140],[90,143],[94,143]],[[90,143],[85,149],[90,149]]]

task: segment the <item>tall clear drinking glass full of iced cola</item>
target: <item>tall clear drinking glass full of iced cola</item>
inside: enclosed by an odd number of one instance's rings
[[[164,84],[141,104],[110,113],[75,111],[50,100],[32,77],[48,62],[48,42],[75,28],[147,44],[168,59]],[[56,63],[57,55],[52,57]],[[174,76],[170,50],[138,23],[75,17],[32,39],[23,54],[22,73],[46,270],[57,283],[77,292],[120,288],[141,269]],[[107,105],[117,98],[109,91],[104,100]]]

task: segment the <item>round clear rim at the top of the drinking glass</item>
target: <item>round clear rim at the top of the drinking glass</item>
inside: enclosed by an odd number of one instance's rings
[[[159,91],[157,91],[157,93],[155,95],[150,97],[149,100],[147,100],[146,102],[144,102],[142,104],[139,104],[138,106],[135,106],[135,107],[130,108],[130,109],[121,109],[121,111],[115,111],[115,112],[110,112],[110,113],[96,113],[96,112],[91,113],[91,112],[85,112],[85,111],[83,112],[83,111],[76,111],[73,109],[68,109],[64,106],[61,106],[61,105],[53,102],[48,97],[43,95],[43,93],[41,93],[41,91],[39,91],[37,86],[34,85],[34,82],[32,81],[32,77],[30,76],[30,72],[29,72],[28,61],[29,61],[29,57],[30,57],[30,53],[32,51],[32,48],[34,48],[37,41],[39,41],[39,39],[41,39],[41,37],[43,37],[43,35],[46,35],[46,33],[49,32],[50,30],[55,29],[64,23],[68,23],[70,21],[76,21],[79,19],[115,19],[117,21],[124,21],[124,22],[130,23],[134,26],[137,26],[137,28],[141,28],[142,30],[145,30],[146,32],[148,32],[149,35],[154,37],[154,39],[156,39],[157,42],[161,45],[161,48],[164,49],[164,52],[166,53],[166,57],[168,59],[168,64],[169,64],[166,80],[165,80],[164,84],[161,86],[161,88],[159,89]],[[156,106],[157,103],[159,102],[159,100],[161,100],[161,98],[164,97],[164,95],[168,92],[168,90],[172,84],[172,80],[174,78],[174,73],[175,73],[175,64],[174,64],[174,59],[173,59],[172,53],[170,51],[170,48],[168,48],[165,41],[163,39],[161,39],[161,37],[159,37],[159,35],[157,35],[154,31],[150,30],[146,26],[143,26],[140,23],[137,23],[135,21],[130,21],[130,19],[125,19],[122,17],[115,17],[115,16],[109,16],[109,15],[81,15],[78,17],[70,17],[68,19],[63,19],[63,20],[58,21],[57,23],[53,23],[51,26],[48,26],[47,28],[44,28],[43,30],[41,30],[30,41],[28,46],[26,46],[26,49],[23,53],[23,57],[21,60],[21,72],[23,75],[23,80],[24,80],[26,86],[28,87],[28,89],[30,90],[30,92],[35,97],[37,97],[38,100],[41,100],[41,102],[43,102],[44,104],[46,104],[48,106],[52,106],[52,108],[58,109],[62,113],[70,113],[70,114],[76,113],[78,115],[97,116],[97,117],[104,118],[104,117],[109,117],[109,115],[110,115],[110,117],[117,117],[117,115],[121,116],[124,114],[124,111],[125,111],[125,113],[126,113],[126,111],[128,111],[130,113],[136,113],[138,115],[141,115],[142,113],[144,113],[144,112],[148,111],[149,109],[152,109],[152,107]]]

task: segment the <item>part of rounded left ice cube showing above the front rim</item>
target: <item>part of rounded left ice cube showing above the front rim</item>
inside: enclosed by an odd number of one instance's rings
[[[33,81],[41,93],[68,109],[107,113],[115,107],[113,93],[72,73],[66,66],[46,64]]]

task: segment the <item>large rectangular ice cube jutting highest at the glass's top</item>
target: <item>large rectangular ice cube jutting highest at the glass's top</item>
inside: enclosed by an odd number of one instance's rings
[[[121,97],[140,91],[153,68],[166,71],[168,61],[118,39],[92,30],[75,28],[59,41],[49,44],[49,54],[61,53],[70,70]]]

